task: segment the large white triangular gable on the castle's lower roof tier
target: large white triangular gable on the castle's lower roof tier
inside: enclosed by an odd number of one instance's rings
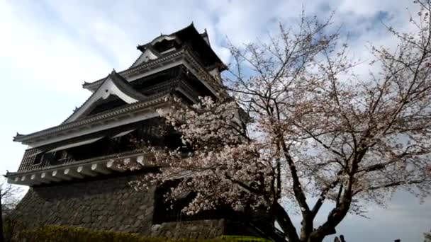
[[[147,100],[147,96],[135,91],[127,80],[118,74],[115,70],[111,72],[106,79],[101,83],[101,86],[81,105],[81,107],[74,110],[74,113],[70,115],[65,122],[72,122],[77,120],[79,117],[86,115],[94,107],[96,101],[101,98],[106,99],[108,96],[116,95],[121,98],[125,103],[135,103],[142,100]]]

